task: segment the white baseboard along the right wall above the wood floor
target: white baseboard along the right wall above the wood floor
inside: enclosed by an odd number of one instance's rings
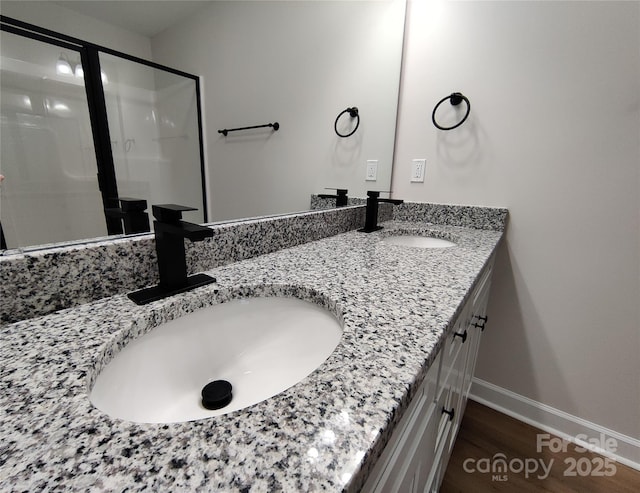
[[[640,440],[636,438],[609,430],[479,378],[473,379],[469,398],[640,471]],[[585,444],[579,439],[576,440],[576,437],[579,436],[586,436],[592,440],[597,439],[599,444],[614,443],[615,447],[611,448],[615,448],[615,451],[593,447],[593,444]],[[605,442],[605,440],[609,441]]]

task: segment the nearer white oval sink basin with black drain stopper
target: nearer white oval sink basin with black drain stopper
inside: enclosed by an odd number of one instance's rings
[[[108,415],[175,423],[226,414],[295,385],[342,337],[337,318],[295,298],[233,300],[185,315],[130,342],[97,376],[90,393]],[[202,388],[227,380],[233,398],[205,409]]]

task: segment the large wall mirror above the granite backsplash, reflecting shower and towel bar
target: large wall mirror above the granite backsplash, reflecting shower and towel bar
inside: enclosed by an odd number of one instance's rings
[[[144,197],[149,209],[194,206],[199,212],[186,219],[217,222],[303,211],[326,188],[347,188],[350,197],[389,190],[405,7],[405,0],[3,0],[0,13],[174,69],[99,54],[118,193]],[[58,59],[74,70],[80,53],[2,36],[2,134],[13,139],[3,142],[0,161],[8,248],[112,233],[84,86],[55,74]],[[20,61],[27,49],[38,61]],[[19,75],[25,67],[27,79]],[[196,76],[199,99],[181,73]],[[358,129],[339,137],[336,117],[353,106]],[[218,132],[275,121],[277,132]],[[374,180],[366,176],[371,160]],[[54,192],[63,200],[47,205]],[[57,226],[60,217],[73,217],[72,227]],[[12,246],[21,224],[31,233]]]

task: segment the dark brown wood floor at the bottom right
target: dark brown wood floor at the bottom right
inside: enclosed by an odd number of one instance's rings
[[[545,432],[469,400],[440,493],[640,491],[639,471],[576,451],[569,442],[564,442],[563,453],[559,439],[553,436],[541,437],[550,446],[538,447],[538,434]],[[507,467],[491,472],[501,465],[500,458]]]

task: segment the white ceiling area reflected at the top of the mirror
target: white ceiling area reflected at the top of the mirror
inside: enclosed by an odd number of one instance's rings
[[[54,3],[152,38],[210,0],[55,0]]]

